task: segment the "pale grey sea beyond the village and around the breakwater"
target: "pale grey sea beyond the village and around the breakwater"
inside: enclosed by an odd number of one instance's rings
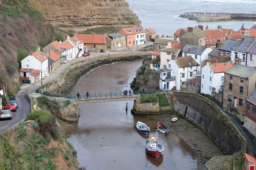
[[[208,25],[209,29],[215,29],[218,25],[222,28],[250,29],[254,21],[209,21],[197,22],[178,17],[187,12],[222,12],[222,13],[256,13],[256,0],[125,0],[130,9],[137,14],[142,21],[143,28],[152,28],[156,34],[174,36],[178,28],[188,26]]]

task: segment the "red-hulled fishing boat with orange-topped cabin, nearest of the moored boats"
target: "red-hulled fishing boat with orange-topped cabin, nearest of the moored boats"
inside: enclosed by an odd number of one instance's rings
[[[162,154],[163,146],[156,141],[156,138],[151,137],[145,140],[146,141],[146,150],[150,155],[159,157]]]

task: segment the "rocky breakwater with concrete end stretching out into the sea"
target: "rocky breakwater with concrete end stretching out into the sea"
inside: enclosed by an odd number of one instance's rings
[[[179,15],[180,18],[201,21],[223,21],[223,20],[256,20],[256,14],[242,13],[210,13],[210,12],[188,12]]]

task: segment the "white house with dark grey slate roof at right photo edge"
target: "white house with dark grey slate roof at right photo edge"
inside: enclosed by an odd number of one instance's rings
[[[255,37],[246,36],[244,38],[241,38],[238,43],[232,48],[231,60],[235,62],[235,59],[240,58],[242,60],[242,65],[255,67],[256,56],[254,53],[256,53]]]

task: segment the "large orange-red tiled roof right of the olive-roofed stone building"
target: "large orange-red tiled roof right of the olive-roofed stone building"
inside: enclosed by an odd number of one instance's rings
[[[218,39],[221,44],[226,42],[227,36],[220,29],[207,29],[204,30],[204,33],[207,35],[207,42],[210,43],[210,45],[215,45],[218,42]]]

